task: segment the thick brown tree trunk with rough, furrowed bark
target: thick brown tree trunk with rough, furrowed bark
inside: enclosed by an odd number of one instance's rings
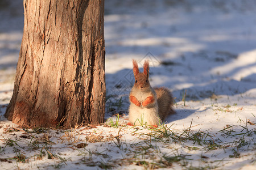
[[[23,127],[98,124],[105,112],[104,0],[24,0],[5,116]]]

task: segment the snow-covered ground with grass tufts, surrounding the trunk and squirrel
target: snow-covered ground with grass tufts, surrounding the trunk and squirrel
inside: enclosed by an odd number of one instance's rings
[[[3,117],[22,1],[0,1],[1,169],[256,169],[255,8],[253,0],[106,1],[108,123],[27,130]],[[126,125],[133,58],[149,59],[151,85],[174,94],[176,114],[158,129]]]

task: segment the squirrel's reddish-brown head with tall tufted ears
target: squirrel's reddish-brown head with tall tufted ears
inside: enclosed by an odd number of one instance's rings
[[[133,59],[133,74],[135,78],[134,87],[137,87],[141,90],[150,87],[148,81],[148,72],[149,72],[149,62],[146,60],[143,66],[143,73],[139,73],[138,63]]]

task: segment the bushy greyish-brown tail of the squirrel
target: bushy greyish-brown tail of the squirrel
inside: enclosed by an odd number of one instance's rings
[[[171,92],[164,87],[154,88],[156,92],[156,98],[158,102],[158,114],[162,121],[170,115],[174,114],[174,97],[172,97]]]

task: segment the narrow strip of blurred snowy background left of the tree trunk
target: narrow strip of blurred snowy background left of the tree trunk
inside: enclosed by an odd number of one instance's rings
[[[23,1],[0,0],[0,114],[13,95],[23,20]]]

